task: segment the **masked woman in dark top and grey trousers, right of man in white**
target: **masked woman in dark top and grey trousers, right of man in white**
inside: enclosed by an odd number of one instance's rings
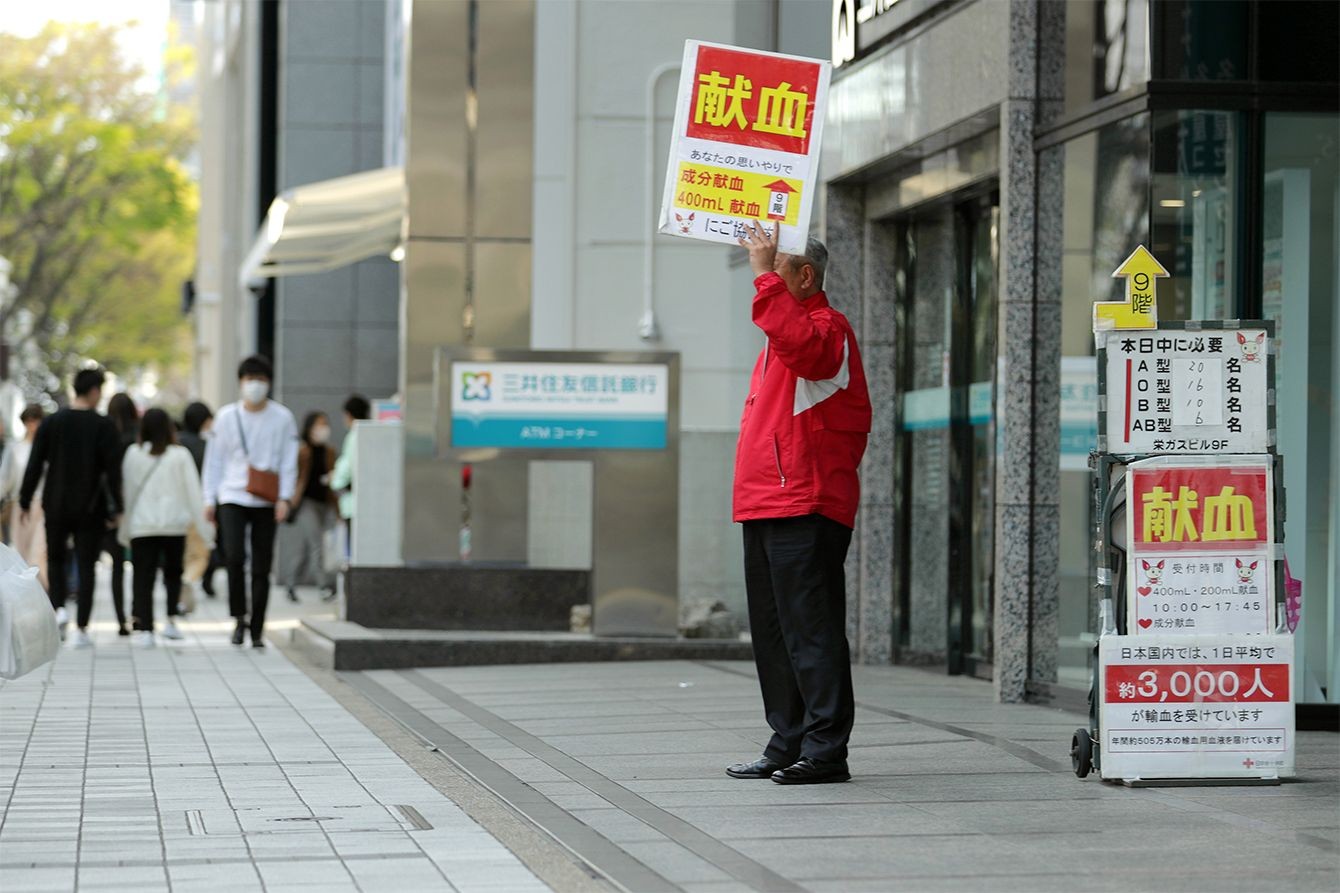
[[[326,413],[307,413],[297,446],[297,484],[287,530],[280,532],[279,585],[288,601],[297,601],[297,586],[315,585],[326,601],[335,598],[335,579],[326,567],[326,531],[335,516],[331,472],[335,453],[330,446],[331,422]]]

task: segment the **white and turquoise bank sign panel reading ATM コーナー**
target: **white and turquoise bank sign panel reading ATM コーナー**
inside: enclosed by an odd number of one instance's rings
[[[452,446],[665,449],[661,363],[450,363]]]

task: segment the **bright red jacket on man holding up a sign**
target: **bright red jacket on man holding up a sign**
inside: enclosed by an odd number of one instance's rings
[[[753,320],[768,343],[740,418],[734,518],[819,514],[854,527],[870,434],[856,335],[823,292],[799,302],[775,272],[754,288]]]

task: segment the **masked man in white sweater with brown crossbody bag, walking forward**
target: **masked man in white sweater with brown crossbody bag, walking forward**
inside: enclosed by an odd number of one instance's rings
[[[264,357],[237,367],[241,398],[218,410],[205,448],[205,518],[218,524],[228,563],[228,606],[237,621],[233,645],[251,630],[264,648],[275,527],[288,518],[297,483],[297,424],[269,398],[273,374]],[[247,599],[247,546],[251,539],[251,605]],[[248,615],[251,622],[248,623]]]

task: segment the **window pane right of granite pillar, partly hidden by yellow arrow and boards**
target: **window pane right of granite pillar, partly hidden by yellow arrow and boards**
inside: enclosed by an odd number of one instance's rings
[[[1038,158],[1038,300],[1061,304],[1061,449],[1057,681],[1087,687],[1091,603],[1088,453],[1097,436],[1095,300],[1123,296],[1112,271],[1148,241],[1150,119],[1135,115]]]

